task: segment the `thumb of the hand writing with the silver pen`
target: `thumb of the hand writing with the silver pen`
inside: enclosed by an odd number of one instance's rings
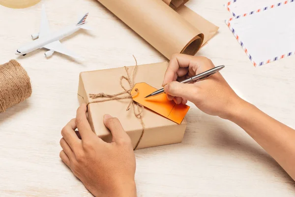
[[[181,97],[189,101],[193,101],[196,97],[196,87],[194,84],[184,84],[177,81],[173,81],[164,86],[166,94],[173,97]]]

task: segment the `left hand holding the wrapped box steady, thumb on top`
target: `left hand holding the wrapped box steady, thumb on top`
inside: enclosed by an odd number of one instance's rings
[[[81,105],[76,119],[61,130],[59,157],[94,196],[136,197],[135,156],[128,134],[117,118],[105,115],[113,142],[104,142],[91,130],[86,112],[86,104]]]

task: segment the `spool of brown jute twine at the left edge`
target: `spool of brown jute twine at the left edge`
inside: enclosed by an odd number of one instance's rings
[[[28,73],[17,61],[0,65],[0,112],[28,99],[31,93]]]

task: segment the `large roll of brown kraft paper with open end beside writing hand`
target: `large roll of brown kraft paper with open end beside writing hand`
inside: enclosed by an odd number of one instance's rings
[[[204,34],[162,0],[98,0],[166,58],[195,55]]]

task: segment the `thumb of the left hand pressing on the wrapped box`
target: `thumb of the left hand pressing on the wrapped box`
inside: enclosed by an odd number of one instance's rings
[[[111,115],[106,114],[103,117],[103,123],[111,131],[113,135],[113,142],[118,142],[129,137],[124,131],[118,118],[113,118]]]

